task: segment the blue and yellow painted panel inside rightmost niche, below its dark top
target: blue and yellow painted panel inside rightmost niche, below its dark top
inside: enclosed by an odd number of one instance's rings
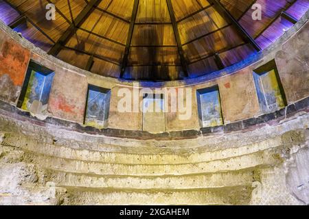
[[[253,77],[262,112],[274,112],[285,107],[275,70],[253,73]]]

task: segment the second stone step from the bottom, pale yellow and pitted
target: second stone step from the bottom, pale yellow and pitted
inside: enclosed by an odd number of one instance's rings
[[[91,175],[58,170],[45,170],[45,181],[57,187],[106,188],[106,189],[203,189],[251,185],[254,170],[220,172],[205,175],[136,177]]]

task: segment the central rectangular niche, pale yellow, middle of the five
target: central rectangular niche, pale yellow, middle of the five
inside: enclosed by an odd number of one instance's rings
[[[144,94],[143,131],[160,133],[165,131],[163,94]]]

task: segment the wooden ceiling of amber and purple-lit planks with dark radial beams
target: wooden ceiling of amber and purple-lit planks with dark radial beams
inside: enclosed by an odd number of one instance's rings
[[[47,21],[45,6],[56,5]],[[254,3],[262,20],[253,21]],[[240,62],[284,34],[309,0],[0,0],[0,19],[37,47],[108,77],[168,81]]]

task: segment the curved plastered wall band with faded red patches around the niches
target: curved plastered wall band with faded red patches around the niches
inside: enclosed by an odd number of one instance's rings
[[[122,113],[117,109],[119,100],[122,98],[122,96],[119,96],[119,90],[125,88],[133,92],[133,88],[139,86],[139,90],[141,88],[148,88],[148,90],[174,88],[177,92],[180,89],[189,88],[192,94],[190,119],[181,120],[179,112],[166,112],[163,130],[155,132],[200,130],[203,126],[198,117],[196,90],[218,86],[222,120],[224,125],[229,125],[265,114],[261,110],[259,96],[255,89],[253,71],[261,68],[261,66],[267,66],[269,62],[275,63],[277,68],[286,105],[294,104],[309,96],[308,25],[307,13],[295,27],[287,31],[271,48],[258,53],[249,60],[244,60],[242,64],[212,75],[187,79],[187,81],[166,83],[140,81],[134,83],[93,75],[80,68],[65,64],[55,57],[48,56],[1,23],[0,98],[6,103],[17,105],[27,64],[32,60],[32,62],[45,66],[55,73],[47,113],[45,116],[41,116],[37,112],[32,112],[32,115],[38,118],[49,116],[82,125],[87,104],[87,88],[89,85],[93,85],[111,90],[111,103],[106,128],[142,131],[144,130],[142,112]],[[139,98],[142,101],[142,97]],[[130,118],[130,122],[124,123],[127,118]]]

